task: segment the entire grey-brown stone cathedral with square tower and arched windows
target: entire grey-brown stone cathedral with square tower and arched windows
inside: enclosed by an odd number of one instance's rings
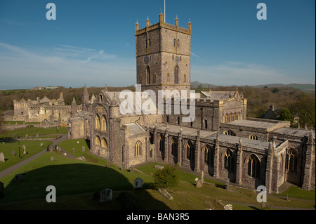
[[[289,182],[315,190],[315,131],[246,117],[247,100],[238,90],[190,92],[191,29],[191,22],[179,27],[178,18],[175,25],[164,22],[162,13],[154,25],[136,23],[140,93],[124,97],[105,86],[90,98],[84,86],[82,108],[72,102],[68,137],[88,139],[91,153],[121,169],[163,161],[251,189],[278,192]],[[143,92],[150,94],[138,99]],[[133,112],[122,113],[122,105]],[[189,105],[193,119],[185,119]]]

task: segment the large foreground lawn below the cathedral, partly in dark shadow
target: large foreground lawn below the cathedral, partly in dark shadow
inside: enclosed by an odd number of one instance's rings
[[[85,144],[84,140],[66,140],[60,143],[60,147],[71,150],[74,145],[79,149]],[[76,147],[77,149],[77,147]],[[88,149],[88,147],[86,147]],[[87,151],[87,150],[86,150]],[[78,154],[77,154],[78,153]],[[75,156],[88,155],[88,152],[76,152]],[[51,162],[51,157],[55,160]],[[177,190],[169,190],[173,200],[169,201],[152,189],[152,176],[157,169],[156,164],[146,164],[137,167],[143,173],[131,173],[121,171],[117,166],[105,167],[105,161],[81,162],[76,159],[63,157],[55,152],[48,152],[34,161],[22,166],[17,171],[1,178],[5,185],[5,197],[0,199],[1,209],[119,209],[115,198],[121,191],[128,191],[136,197],[140,209],[172,209],[172,210],[205,210],[212,207],[220,210],[218,200],[225,204],[233,204],[234,209],[252,210],[260,209],[261,205],[256,202],[256,192],[238,187],[231,187],[228,191],[212,180],[200,187],[195,187],[195,175],[178,170],[180,185]],[[102,161],[103,160],[103,161]],[[21,183],[15,183],[14,176],[25,173]],[[143,178],[143,190],[133,190],[133,182],[136,178]],[[34,184],[36,183],[36,184]],[[45,200],[46,187],[56,187],[57,203],[48,204]],[[219,186],[218,186],[219,185]],[[113,190],[113,202],[100,204],[93,201],[93,193],[108,187]],[[304,192],[304,193],[303,193]],[[303,191],[296,195],[313,194],[314,201],[283,198],[268,195],[271,209],[284,207],[315,208],[315,192]],[[293,195],[294,196],[294,195]],[[234,203],[232,203],[234,202]],[[273,206],[279,206],[273,208]]]

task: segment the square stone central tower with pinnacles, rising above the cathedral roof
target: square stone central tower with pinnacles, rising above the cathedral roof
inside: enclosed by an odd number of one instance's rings
[[[137,84],[142,91],[181,90],[190,93],[191,22],[188,29],[164,22],[160,13],[159,22],[139,29],[136,23]]]

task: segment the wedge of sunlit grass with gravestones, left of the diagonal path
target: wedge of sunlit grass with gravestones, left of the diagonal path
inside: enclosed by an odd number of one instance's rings
[[[41,147],[41,143],[43,143],[43,147]],[[27,154],[23,154],[24,150],[22,146],[25,145],[25,151]],[[5,162],[0,162],[0,171],[7,169],[10,166],[18,164],[19,162],[32,157],[34,154],[41,152],[41,150],[46,149],[48,145],[51,145],[51,141],[48,140],[29,140],[24,141],[20,140],[20,157],[19,159],[19,145],[18,141],[15,142],[7,142],[5,145],[0,143],[0,152],[4,153]],[[12,155],[12,152],[15,151],[15,154]]]

